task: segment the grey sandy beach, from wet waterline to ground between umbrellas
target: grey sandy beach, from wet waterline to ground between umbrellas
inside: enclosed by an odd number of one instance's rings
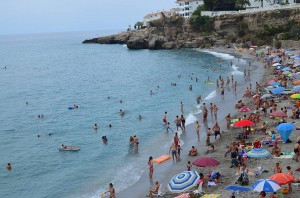
[[[231,127],[230,130],[226,129],[226,122],[225,122],[225,116],[228,113],[231,113],[232,118],[241,118],[243,117],[243,115],[247,114],[247,113],[242,113],[239,112],[237,109],[235,109],[234,105],[236,104],[236,102],[238,100],[243,100],[243,102],[245,103],[245,105],[253,105],[253,99],[252,98],[245,98],[243,97],[244,91],[245,91],[245,87],[249,86],[250,83],[252,83],[252,86],[255,87],[255,82],[267,82],[269,80],[272,79],[272,72],[273,72],[273,67],[267,67],[265,68],[265,64],[263,62],[263,60],[256,60],[256,57],[254,57],[253,55],[249,54],[249,51],[243,51],[243,52],[239,52],[237,50],[234,50],[234,53],[230,53],[230,51],[232,50],[228,50],[226,48],[214,48],[212,51],[214,52],[219,52],[219,53],[229,53],[231,55],[234,55],[236,58],[240,58],[240,59],[244,59],[248,62],[251,62],[251,80],[250,81],[245,81],[244,86],[240,86],[241,88],[238,89],[237,94],[235,97],[229,97],[229,100],[231,100],[229,103],[226,103],[226,107],[227,105],[230,105],[230,107],[226,108],[225,105],[221,105],[222,101],[217,101],[217,105],[220,108],[220,112],[218,113],[218,122],[221,126],[221,131],[223,131],[222,133],[222,139],[218,140],[216,142],[214,142],[213,140],[213,144],[216,146],[217,151],[213,152],[213,153],[209,153],[209,154],[205,154],[205,151],[207,150],[207,146],[205,145],[205,127],[203,127],[203,124],[201,124],[201,142],[197,142],[196,140],[196,133],[195,133],[195,126],[194,124],[189,125],[186,128],[186,132],[183,133],[180,137],[181,140],[184,141],[184,146],[183,151],[181,153],[181,159],[177,162],[173,162],[172,160],[168,160],[167,162],[164,162],[163,164],[155,164],[154,165],[154,179],[153,181],[159,181],[162,184],[162,192],[165,192],[166,194],[164,195],[164,197],[175,197],[176,194],[171,194],[169,193],[168,189],[167,189],[167,184],[168,182],[171,180],[171,178],[180,173],[181,171],[185,171],[187,170],[186,165],[188,161],[194,161],[195,159],[199,158],[199,157],[212,157],[214,159],[217,159],[220,162],[220,165],[216,166],[216,167],[208,167],[208,168],[193,168],[192,170],[196,170],[198,172],[202,172],[204,174],[208,174],[212,171],[218,171],[221,174],[224,174],[224,177],[221,177],[220,179],[220,183],[217,184],[217,186],[209,186],[208,188],[204,189],[205,193],[212,193],[212,194],[220,194],[220,197],[230,197],[232,195],[232,191],[225,191],[224,188],[226,188],[229,185],[235,185],[235,182],[237,180],[237,178],[239,177],[239,175],[237,175],[237,168],[230,168],[230,164],[231,164],[231,159],[230,157],[224,157],[224,154],[226,152],[225,147],[230,145],[232,142],[234,141],[238,141],[237,140],[237,134],[238,132],[241,130],[239,128],[233,128]],[[220,97],[220,96],[219,96]],[[225,97],[224,101],[228,99]],[[282,104],[280,104],[280,107],[283,107],[287,104],[287,101],[284,101]],[[249,113],[248,113],[249,114]],[[197,120],[201,121],[202,123],[202,114],[198,114],[197,115]],[[264,121],[268,122],[268,123],[273,123],[274,120],[268,118],[268,117],[264,117],[263,118]],[[213,119],[210,117],[210,112],[209,112],[209,116],[208,116],[208,126],[211,126],[213,123]],[[296,125],[297,125],[297,121],[296,121]],[[271,125],[268,127],[268,131],[269,130],[274,130],[275,129],[275,125]],[[297,138],[299,133],[297,133],[297,131],[295,131],[294,133],[292,133],[290,139],[291,140],[295,140]],[[261,134],[261,133],[255,133],[253,135],[250,135],[249,139],[247,139],[247,142],[253,142],[255,138],[258,138],[260,140],[262,140],[263,138],[265,138],[265,135]],[[211,139],[214,139],[213,137]],[[194,145],[196,146],[196,148],[198,149],[198,151],[200,151],[200,154],[197,157],[190,157],[187,156],[187,151],[190,149],[190,147]],[[281,151],[292,151],[293,150],[293,143],[292,144],[281,144]],[[269,150],[271,152],[272,147],[268,147],[266,145],[264,145],[264,148],[266,148],[267,150]],[[295,161],[293,161],[292,159],[278,159],[278,158],[268,158],[268,159],[259,159],[259,162],[257,162],[257,160],[250,160],[247,161],[247,168],[249,168],[252,171],[255,171],[257,169],[257,165],[259,164],[259,166],[263,166],[264,170],[267,170],[268,172],[264,172],[262,173],[262,175],[260,175],[258,178],[254,177],[254,176],[250,176],[249,177],[249,183],[250,185],[252,183],[254,183],[255,181],[257,181],[258,179],[263,179],[263,178],[269,178],[272,174],[274,174],[273,170],[275,167],[275,163],[280,163],[280,165],[283,168],[283,172],[286,172],[286,166],[291,166],[292,170],[295,170],[296,168],[298,168],[298,163],[296,163]],[[299,173],[297,173],[296,171],[294,171],[295,174],[295,178],[299,177]],[[123,191],[119,196],[120,197],[145,197],[145,195],[147,194],[147,191],[149,189],[149,187],[153,187],[153,185],[151,185],[151,182],[149,182],[149,178],[148,178],[148,172],[145,171],[141,180],[135,184],[134,186],[132,186],[131,188]],[[299,193],[299,189],[298,187],[294,187],[293,188],[293,192],[290,194],[285,195],[285,197],[296,197],[297,194]],[[237,192],[236,193],[236,197],[243,197],[243,198],[250,198],[250,197],[258,197],[259,193],[258,192]]]

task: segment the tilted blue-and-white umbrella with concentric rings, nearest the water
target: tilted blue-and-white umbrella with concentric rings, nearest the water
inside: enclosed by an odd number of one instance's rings
[[[193,188],[199,179],[197,171],[183,171],[171,179],[168,189],[173,193],[182,193]]]

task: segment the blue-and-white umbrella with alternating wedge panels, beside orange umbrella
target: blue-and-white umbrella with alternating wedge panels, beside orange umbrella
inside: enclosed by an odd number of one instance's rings
[[[252,184],[252,190],[256,192],[276,192],[279,189],[281,189],[281,186],[276,181],[270,179],[260,179]]]

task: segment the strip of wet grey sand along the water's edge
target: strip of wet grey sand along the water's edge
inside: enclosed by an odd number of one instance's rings
[[[232,50],[232,49],[230,49],[230,50]],[[229,54],[229,55],[234,56],[235,59],[241,58],[241,59],[244,59],[247,63],[248,63],[248,61],[250,61],[251,64],[253,65],[253,66],[251,66],[252,78],[250,81],[252,84],[255,84],[255,81],[261,81],[261,79],[263,77],[263,73],[265,71],[262,69],[263,63],[255,61],[253,57],[251,57],[250,55],[248,55],[246,53],[241,53],[241,52],[230,53],[230,52],[228,52],[227,48],[214,48],[214,49],[201,50],[201,51],[203,51],[203,52],[211,51],[211,52]],[[236,65],[236,66],[238,66],[240,68],[239,65]],[[244,67],[246,67],[246,66],[244,66]],[[253,76],[253,74],[255,74],[255,75]],[[226,131],[226,130],[224,130],[226,128],[226,123],[225,123],[225,119],[224,119],[225,115],[227,115],[230,112],[232,114],[232,116],[235,117],[235,115],[237,114],[237,110],[234,109],[234,104],[242,98],[243,92],[245,90],[244,88],[246,88],[247,83],[249,83],[249,81],[243,82],[242,85],[239,83],[236,95],[234,95],[232,92],[230,94],[231,97],[229,97],[228,95],[225,94],[225,101],[228,98],[231,99],[230,107],[228,107],[228,108],[221,107],[220,102],[222,102],[222,101],[219,101],[219,99],[220,99],[219,93],[217,93],[217,96],[215,98],[203,101],[203,102],[207,103],[207,106],[208,106],[208,103],[213,102],[213,103],[216,103],[217,106],[219,107],[218,122],[220,124],[221,131]],[[226,103],[228,103],[228,102],[226,101]],[[207,123],[209,126],[214,124],[213,123],[214,119],[211,120],[210,115],[211,114],[209,111],[208,112],[208,123]],[[167,192],[167,194],[170,194],[170,193],[168,193],[168,190],[167,190],[167,184],[168,184],[169,180],[175,174],[186,170],[187,161],[192,162],[195,159],[198,159],[199,157],[205,155],[204,152],[206,151],[206,148],[207,148],[205,145],[206,127],[204,126],[204,124],[201,121],[202,113],[198,113],[195,116],[196,116],[197,120],[200,120],[200,125],[201,125],[200,143],[196,140],[194,123],[192,123],[186,127],[186,131],[183,132],[180,136],[180,140],[184,141],[184,145],[182,146],[183,151],[181,154],[181,159],[177,162],[173,162],[173,160],[170,159],[162,164],[154,164],[154,175],[153,175],[154,180],[152,181],[152,183],[154,184],[154,182],[156,180],[159,181],[159,183],[162,184],[162,192],[164,192],[164,193]],[[226,137],[227,137],[227,132],[222,134],[221,141],[219,140],[219,141],[215,142],[213,140],[214,139],[213,137],[211,138],[211,141],[216,146],[216,148],[217,149],[219,148],[218,150],[220,150],[220,144],[223,144],[222,142],[230,143],[230,141],[226,140]],[[186,155],[187,151],[190,149],[190,147],[192,145],[195,145],[195,147],[199,151],[200,155],[198,155],[197,157],[189,157]],[[220,161],[220,162],[221,162],[221,164],[223,163],[222,161]],[[145,195],[148,193],[149,187],[153,187],[153,185],[149,181],[148,170],[146,170],[146,171],[144,171],[144,173],[142,174],[141,178],[139,179],[139,181],[137,183],[135,183],[128,189],[125,189],[125,190],[119,192],[118,197],[145,197]],[[132,192],[135,192],[135,193],[133,194]],[[172,197],[172,195],[170,195],[170,197]]]

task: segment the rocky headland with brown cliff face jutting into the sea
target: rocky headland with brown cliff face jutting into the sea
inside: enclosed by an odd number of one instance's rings
[[[210,18],[211,31],[201,31],[189,21],[160,19],[150,27],[83,41],[84,44],[126,44],[129,49],[209,48],[235,42],[242,46],[269,44],[300,33],[300,9],[280,9],[227,14]],[[293,30],[292,30],[293,29]],[[299,31],[299,33],[298,33]],[[295,35],[292,35],[295,34]],[[299,34],[300,35],[300,34]],[[298,38],[297,38],[298,39]]]

